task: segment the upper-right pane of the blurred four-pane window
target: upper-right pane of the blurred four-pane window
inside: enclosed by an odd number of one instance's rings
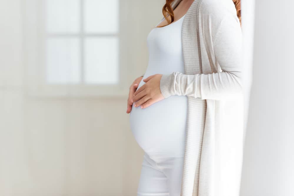
[[[86,33],[117,33],[119,0],[84,0]]]

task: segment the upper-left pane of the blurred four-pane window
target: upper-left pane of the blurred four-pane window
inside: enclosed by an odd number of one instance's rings
[[[80,29],[80,0],[47,0],[49,33],[77,33]]]

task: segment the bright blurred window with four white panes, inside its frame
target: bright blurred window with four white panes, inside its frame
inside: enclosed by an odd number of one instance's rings
[[[119,0],[46,0],[48,84],[119,83]]]

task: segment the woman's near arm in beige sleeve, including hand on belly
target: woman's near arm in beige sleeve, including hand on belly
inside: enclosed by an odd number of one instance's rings
[[[145,84],[134,93],[132,99],[136,103],[134,106],[146,108],[172,95],[213,100],[242,95],[242,32],[240,22],[237,16],[228,13],[218,24],[216,31],[214,31],[215,34],[212,36],[215,59],[210,60],[217,63],[217,66],[219,65],[221,69],[219,72],[195,75],[173,72],[167,75],[149,76],[143,80]]]

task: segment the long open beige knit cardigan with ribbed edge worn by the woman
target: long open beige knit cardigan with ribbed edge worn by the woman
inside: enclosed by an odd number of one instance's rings
[[[175,0],[173,9],[180,0]],[[165,98],[187,96],[182,196],[237,196],[243,148],[242,32],[232,0],[195,0],[182,25],[185,73],[163,75]]]

